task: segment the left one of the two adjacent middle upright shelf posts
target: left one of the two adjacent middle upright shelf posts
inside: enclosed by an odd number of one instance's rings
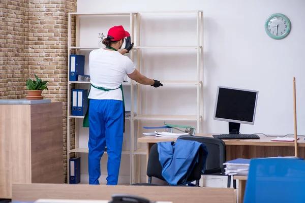
[[[134,42],[134,13],[130,14],[130,35],[131,35],[131,42]],[[130,52],[130,58],[134,61],[134,52]],[[131,110],[130,110],[130,138],[131,138],[131,147],[130,147],[130,184],[134,183],[134,159],[133,159],[133,152],[134,152],[134,86],[133,80],[130,81],[130,94],[131,94]]]

